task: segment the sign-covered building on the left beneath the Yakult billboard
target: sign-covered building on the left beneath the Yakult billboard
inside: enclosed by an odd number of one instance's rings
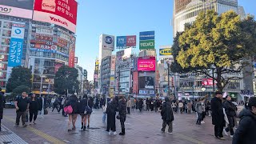
[[[34,93],[54,91],[62,65],[74,67],[78,2],[0,1],[0,86],[14,66],[32,70]],[[72,9],[71,9],[72,8]]]

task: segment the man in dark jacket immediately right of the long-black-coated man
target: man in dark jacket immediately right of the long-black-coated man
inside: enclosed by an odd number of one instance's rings
[[[225,109],[226,112],[226,116],[228,118],[229,121],[229,126],[226,127],[226,129],[224,130],[224,133],[226,135],[227,132],[230,131],[230,137],[233,138],[234,135],[234,116],[236,115],[236,106],[234,106],[234,104],[231,102],[231,97],[229,95],[226,96],[226,101],[223,102],[223,107]]]

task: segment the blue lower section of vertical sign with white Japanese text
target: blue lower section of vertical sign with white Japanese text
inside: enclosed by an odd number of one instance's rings
[[[22,64],[22,38],[10,38],[10,50],[8,58],[8,66],[21,66]]]

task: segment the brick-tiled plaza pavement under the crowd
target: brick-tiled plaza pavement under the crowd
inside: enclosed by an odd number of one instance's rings
[[[49,110],[50,111],[50,110]],[[102,122],[102,110],[94,110],[91,115],[90,129],[80,131],[81,118],[78,116],[78,129],[72,133],[67,132],[68,118],[62,117],[57,112],[46,115],[44,119],[38,118],[37,124],[26,128],[14,127],[14,110],[4,110],[3,126],[7,131],[13,131],[20,138],[21,143],[206,143],[206,144],[229,144],[231,138],[226,141],[214,138],[214,127],[211,125],[211,118],[206,117],[206,124],[195,125],[195,114],[175,114],[174,134],[162,133],[162,119],[159,113],[155,112],[132,112],[126,118],[126,135],[109,135],[106,130],[106,123]],[[120,122],[116,122],[117,132],[120,132]],[[12,133],[10,131],[10,133]],[[4,132],[6,133],[6,132]],[[13,134],[15,136],[15,134]],[[8,138],[11,137],[11,134]],[[0,142],[2,141],[0,135]],[[18,138],[18,137],[17,137]],[[2,142],[3,143],[3,142]],[[16,142],[12,142],[16,143]]]

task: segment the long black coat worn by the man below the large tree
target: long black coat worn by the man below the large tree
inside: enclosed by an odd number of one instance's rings
[[[214,97],[210,101],[210,106],[212,110],[212,122],[216,126],[225,126],[222,100],[220,98]]]

